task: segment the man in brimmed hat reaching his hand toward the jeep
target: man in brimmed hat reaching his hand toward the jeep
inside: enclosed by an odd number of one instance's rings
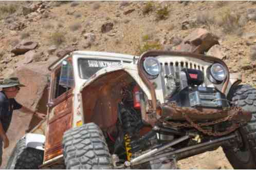
[[[6,132],[11,123],[12,111],[19,109],[26,114],[32,114],[41,119],[45,118],[44,114],[32,111],[16,102],[14,98],[19,92],[20,87],[24,87],[24,85],[20,84],[18,78],[4,79],[2,82],[0,82],[0,88],[3,89],[0,91],[0,165],[2,164],[3,142],[4,148],[9,146],[9,139],[6,136]]]

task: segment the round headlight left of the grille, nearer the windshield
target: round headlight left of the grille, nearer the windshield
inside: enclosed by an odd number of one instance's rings
[[[161,67],[157,59],[153,57],[146,58],[143,63],[145,71],[153,76],[156,76],[160,73]]]

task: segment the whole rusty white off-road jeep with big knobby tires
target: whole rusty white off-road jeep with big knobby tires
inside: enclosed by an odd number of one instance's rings
[[[234,168],[256,167],[256,90],[220,59],[74,51],[48,69],[47,120],[21,139],[33,168],[170,169],[219,146]],[[29,168],[17,157],[7,168]]]

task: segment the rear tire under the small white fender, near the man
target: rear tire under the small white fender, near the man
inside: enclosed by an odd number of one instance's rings
[[[6,169],[38,169],[43,163],[43,157],[43,150],[26,147],[23,137],[12,150]]]

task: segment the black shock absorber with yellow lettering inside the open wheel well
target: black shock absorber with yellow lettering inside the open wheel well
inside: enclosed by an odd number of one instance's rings
[[[134,145],[131,145],[131,143],[139,139],[138,130],[140,127],[138,126],[140,125],[140,117],[135,110],[131,108],[129,109],[122,104],[120,106],[120,116],[124,134],[124,146],[127,160],[130,161],[134,152],[133,147],[135,147]]]

